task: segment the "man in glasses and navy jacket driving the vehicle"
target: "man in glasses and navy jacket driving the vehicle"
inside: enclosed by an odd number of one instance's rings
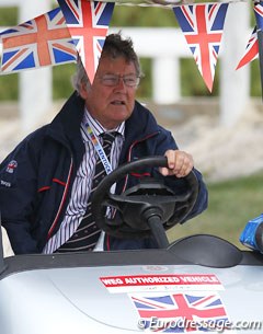
[[[90,211],[96,165],[118,164],[147,156],[167,156],[160,169],[164,183],[193,169],[191,154],[180,151],[170,131],[135,100],[141,76],[130,39],[121,34],[105,39],[92,85],[79,62],[76,92],[55,119],[28,135],[0,165],[0,208],[15,254],[92,251],[98,230]],[[106,133],[112,145],[104,142]],[[111,149],[107,159],[104,148]],[[100,157],[100,159],[98,158]],[[101,174],[100,172],[99,174]],[[150,171],[152,173],[152,171]],[[187,219],[207,207],[207,189],[198,171],[199,193]],[[117,183],[122,193],[138,183]],[[121,240],[105,235],[104,250],[155,247],[150,238]]]

